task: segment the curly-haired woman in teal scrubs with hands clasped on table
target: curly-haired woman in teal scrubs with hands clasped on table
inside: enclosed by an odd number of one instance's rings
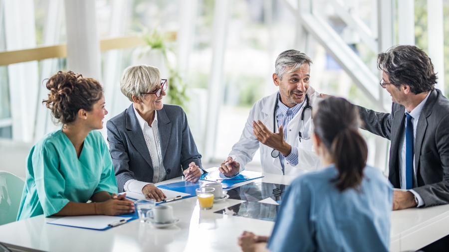
[[[43,103],[62,124],[31,149],[17,220],[48,216],[120,215],[134,211],[117,196],[111,155],[101,133],[108,113],[94,79],[58,72],[46,83]],[[86,203],[91,200],[92,203]]]

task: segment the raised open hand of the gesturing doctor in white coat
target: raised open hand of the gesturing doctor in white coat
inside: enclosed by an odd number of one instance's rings
[[[273,133],[260,120],[252,121],[252,133],[259,142],[279,151],[283,156],[290,155],[291,145],[284,140],[282,125],[279,126],[278,133]]]

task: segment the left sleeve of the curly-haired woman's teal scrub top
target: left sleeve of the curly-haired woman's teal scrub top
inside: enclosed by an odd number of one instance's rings
[[[40,205],[46,217],[59,212],[67,203],[65,179],[59,172],[60,157],[52,142],[44,142],[32,157],[34,181]]]

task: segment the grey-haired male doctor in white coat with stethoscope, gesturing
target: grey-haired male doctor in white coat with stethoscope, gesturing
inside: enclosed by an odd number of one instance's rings
[[[222,177],[243,171],[257,148],[264,173],[296,176],[320,167],[310,139],[311,110],[321,99],[309,86],[311,63],[296,50],[279,54],[273,74],[279,91],[260,99],[250,110],[240,139],[219,168]]]

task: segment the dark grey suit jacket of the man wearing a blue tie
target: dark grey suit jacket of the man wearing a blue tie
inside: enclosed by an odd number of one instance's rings
[[[388,179],[400,188],[398,154],[404,130],[405,107],[393,103],[391,114],[359,107],[363,129],[391,140]],[[449,101],[440,90],[431,91],[421,111],[415,138],[415,168],[418,187],[414,188],[424,206],[449,203]]]

